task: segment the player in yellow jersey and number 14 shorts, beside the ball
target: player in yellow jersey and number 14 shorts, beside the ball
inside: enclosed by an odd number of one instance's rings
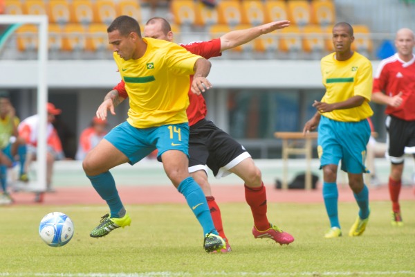
[[[212,84],[206,79],[210,62],[172,42],[142,38],[138,22],[131,17],[117,17],[107,32],[130,109],[127,121],[113,128],[83,162],[86,176],[110,208],[110,214],[102,217],[91,237],[102,237],[131,222],[109,170],[122,163],[132,165],[157,149],[167,177],[185,196],[203,227],[205,251],[225,248],[225,241],[214,228],[205,195],[187,170],[190,75],[194,74],[194,93],[210,89]],[[116,94],[107,95],[96,115],[105,119],[108,110],[115,114],[114,107],[119,102]]]

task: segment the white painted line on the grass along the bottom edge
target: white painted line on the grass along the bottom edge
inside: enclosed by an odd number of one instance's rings
[[[326,271],[326,272],[199,272],[191,274],[188,272],[145,272],[145,273],[9,273],[0,272],[0,276],[39,276],[39,277],[177,277],[177,276],[394,276],[405,274],[407,276],[415,276],[415,271]]]

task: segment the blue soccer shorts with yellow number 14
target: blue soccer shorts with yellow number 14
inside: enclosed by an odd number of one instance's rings
[[[111,129],[104,136],[133,165],[158,150],[157,159],[168,150],[179,150],[189,157],[189,124],[162,125],[160,127],[136,128],[127,121]]]

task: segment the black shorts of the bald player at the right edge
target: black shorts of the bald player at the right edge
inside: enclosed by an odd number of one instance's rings
[[[405,148],[415,148],[415,121],[387,116],[385,125],[389,159],[394,164],[403,163]]]

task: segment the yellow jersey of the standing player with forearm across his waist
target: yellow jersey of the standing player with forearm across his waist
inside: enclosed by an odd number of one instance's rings
[[[366,57],[355,52],[349,60],[338,61],[335,60],[335,53],[331,53],[322,58],[321,70],[326,87],[322,102],[342,102],[353,96],[366,98],[359,107],[335,109],[323,113],[323,116],[337,121],[358,122],[374,114],[369,106],[373,84],[372,66]]]

